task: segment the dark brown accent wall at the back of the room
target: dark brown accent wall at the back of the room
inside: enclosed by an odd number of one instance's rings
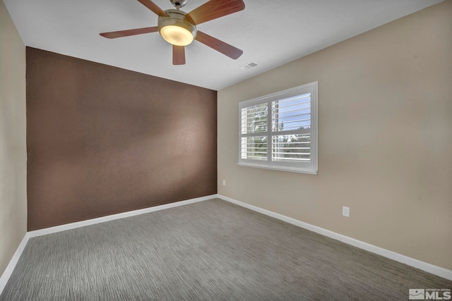
[[[215,194],[216,96],[28,47],[28,231]]]

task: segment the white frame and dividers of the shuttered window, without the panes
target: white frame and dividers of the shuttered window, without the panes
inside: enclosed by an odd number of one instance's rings
[[[310,160],[305,162],[281,162],[272,159],[272,137],[280,135],[291,135],[290,133],[297,130],[275,131],[272,130],[272,102],[287,99],[290,97],[301,96],[303,94],[311,94],[311,125],[309,130],[304,132],[310,134]],[[242,109],[258,104],[267,104],[267,131],[263,133],[246,133],[242,134]],[[307,85],[292,87],[287,90],[266,94],[254,99],[248,99],[239,102],[239,166],[273,169],[278,171],[290,171],[295,173],[317,174],[318,171],[318,82],[311,82]],[[243,137],[267,137],[267,158],[266,160],[242,159],[242,138]]]

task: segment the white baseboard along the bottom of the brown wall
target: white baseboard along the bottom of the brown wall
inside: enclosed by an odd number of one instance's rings
[[[127,211],[127,212],[123,212],[123,213],[119,213],[119,214],[112,214],[109,216],[102,216],[102,217],[98,217],[97,219],[88,219],[86,221],[77,221],[76,223],[66,223],[65,225],[61,225],[61,226],[54,226],[54,227],[50,227],[50,228],[44,228],[44,229],[40,229],[40,230],[30,231],[30,232],[28,232],[28,235],[30,235],[30,238],[34,238],[36,236],[47,235],[47,234],[57,233],[60,231],[66,231],[66,230],[70,230],[70,229],[74,229],[74,228],[80,228],[80,227],[84,227],[84,226],[94,225],[95,223],[105,223],[106,221],[113,221],[115,219],[124,219],[129,216],[136,216],[139,214],[145,214],[145,213],[149,213],[149,212],[153,212],[153,211],[159,211],[159,210],[168,209],[168,208],[172,208],[172,207],[178,207],[178,206],[182,206],[182,205],[186,205],[186,204],[201,202],[201,201],[205,201],[206,199],[212,199],[213,197],[217,197],[217,195],[208,195],[206,197],[197,197],[196,199],[186,199],[185,201],[163,204],[160,206],[149,207],[149,208],[145,208],[145,209]]]

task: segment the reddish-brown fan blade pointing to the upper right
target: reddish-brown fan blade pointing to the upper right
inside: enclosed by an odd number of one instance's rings
[[[237,13],[245,8],[242,0],[210,0],[185,16],[194,25]]]

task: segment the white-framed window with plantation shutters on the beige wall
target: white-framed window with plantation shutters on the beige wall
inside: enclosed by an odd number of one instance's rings
[[[317,173],[317,82],[239,103],[239,165]]]

